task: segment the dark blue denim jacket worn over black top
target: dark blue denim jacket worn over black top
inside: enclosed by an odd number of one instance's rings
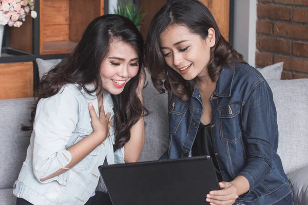
[[[223,180],[244,176],[249,181],[248,193],[235,204],[272,204],[291,193],[292,185],[276,153],[273,94],[262,75],[247,64],[223,67],[210,104],[213,147]],[[196,84],[188,100],[171,97],[170,159],[189,156],[202,112]]]

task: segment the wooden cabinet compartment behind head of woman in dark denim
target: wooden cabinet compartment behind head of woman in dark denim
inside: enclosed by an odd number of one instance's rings
[[[222,35],[226,40],[229,40],[229,13],[230,13],[230,0],[200,0],[213,14],[216,22],[220,28]],[[155,14],[160,8],[165,5],[167,0],[139,0],[142,6],[142,12],[146,12],[146,16],[142,21],[140,32],[145,38],[149,24]]]

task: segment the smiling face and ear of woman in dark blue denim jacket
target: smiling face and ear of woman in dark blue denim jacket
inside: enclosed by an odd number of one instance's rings
[[[203,39],[186,26],[169,26],[160,35],[160,42],[167,65],[185,80],[207,75],[210,48],[215,45],[213,28],[208,29],[208,36]]]

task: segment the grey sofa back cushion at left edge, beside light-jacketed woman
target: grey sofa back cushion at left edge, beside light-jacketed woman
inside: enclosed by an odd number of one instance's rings
[[[0,100],[0,189],[13,187],[26,158],[31,133],[21,127],[29,125],[33,103],[34,98]]]

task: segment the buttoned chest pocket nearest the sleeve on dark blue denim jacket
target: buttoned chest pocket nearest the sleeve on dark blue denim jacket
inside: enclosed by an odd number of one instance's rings
[[[219,133],[222,141],[237,143],[241,136],[240,105],[230,104],[219,110]]]

